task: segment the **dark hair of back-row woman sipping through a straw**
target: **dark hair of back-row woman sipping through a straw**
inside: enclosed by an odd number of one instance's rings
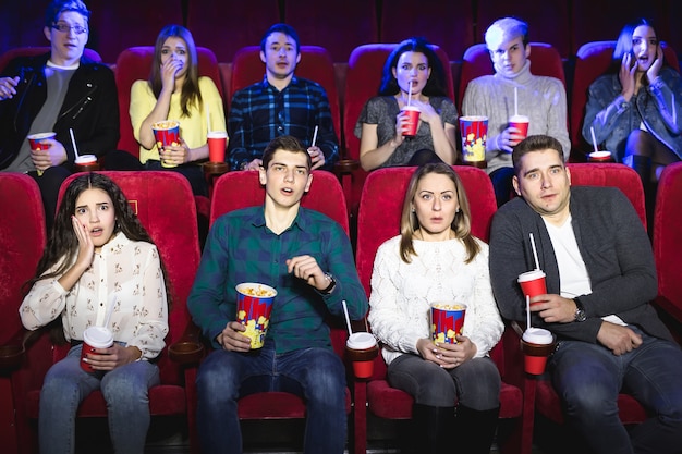
[[[383,64],[379,96],[392,96],[400,93],[398,81],[393,75],[393,69],[398,68],[398,60],[400,60],[400,56],[405,52],[424,53],[428,61],[428,68],[431,69],[431,75],[428,77],[428,81],[426,81],[422,93],[426,96],[448,96],[448,90],[446,89],[446,72],[440,58],[434,50],[434,46],[422,37],[405,39],[388,56]]]

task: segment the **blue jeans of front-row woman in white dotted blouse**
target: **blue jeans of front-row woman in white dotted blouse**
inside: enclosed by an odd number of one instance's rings
[[[81,347],[72,347],[45,376],[38,418],[40,453],[75,451],[78,405],[93,391],[101,390],[114,452],[143,454],[150,419],[148,390],[159,384],[159,368],[136,361],[108,372],[88,373],[81,368]]]

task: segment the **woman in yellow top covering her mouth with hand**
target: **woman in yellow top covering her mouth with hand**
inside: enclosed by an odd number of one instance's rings
[[[131,121],[139,143],[139,161],[147,170],[172,170],[190,181],[195,195],[208,195],[198,162],[208,158],[210,130],[226,132],[222,99],[209,77],[199,77],[194,38],[181,25],[166,26],[156,39],[149,81],[131,88]],[[157,148],[151,125],[180,122],[180,143]]]

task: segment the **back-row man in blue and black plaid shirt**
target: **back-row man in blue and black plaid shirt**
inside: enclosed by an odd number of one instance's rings
[[[263,82],[232,97],[228,130],[232,170],[258,170],[263,150],[275,137],[291,135],[304,144],[313,170],[333,170],[339,159],[329,99],[317,83],[296,77],[301,61],[299,35],[287,24],[275,24],[260,41]],[[318,127],[315,145],[315,127]]]

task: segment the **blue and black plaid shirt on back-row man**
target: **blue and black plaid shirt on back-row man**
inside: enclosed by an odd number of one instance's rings
[[[263,82],[241,89],[232,97],[228,131],[230,169],[263,158],[265,147],[275,137],[291,135],[304,147],[313,143],[325,154],[324,170],[333,170],[339,159],[339,139],[333,130],[329,100],[317,83],[293,76],[279,91],[264,76]]]

